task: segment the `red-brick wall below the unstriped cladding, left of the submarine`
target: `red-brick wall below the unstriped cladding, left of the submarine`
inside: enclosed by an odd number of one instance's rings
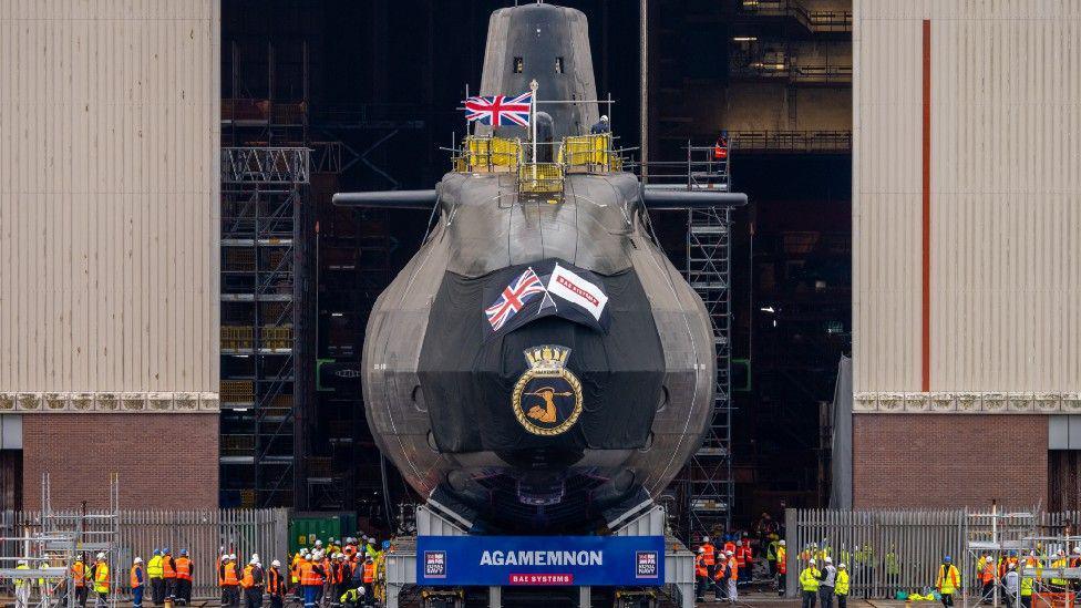
[[[22,416],[23,506],[41,503],[49,472],[54,508],[109,506],[120,473],[121,508],[217,508],[218,414]]]

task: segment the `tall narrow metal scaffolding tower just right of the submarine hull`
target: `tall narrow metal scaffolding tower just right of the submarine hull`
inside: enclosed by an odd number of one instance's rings
[[[696,147],[688,142],[687,189],[729,190],[728,150],[722,157],[717,156],[714,147]],[[687,464],[684,476],[689,533],[709,534],[718,526],[727,529],[731,518],[734,484],[731,458],[730,214],[728,207],[687,210],[684,275],[706,305],[717,348],[713,419],[702,446]]]

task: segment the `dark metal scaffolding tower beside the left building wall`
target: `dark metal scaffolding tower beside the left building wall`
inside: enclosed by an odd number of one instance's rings
[[[288,504],[294,491],[296,302],[305,293],[296,243],[309,163],[306,147],[222,148],[222,408],[229,415],[220,460],[251,467],[243,506]]]

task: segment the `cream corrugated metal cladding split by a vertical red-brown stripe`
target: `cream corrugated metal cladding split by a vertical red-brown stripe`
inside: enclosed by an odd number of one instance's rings
[[[920,391],[930,20],[930,391],[1081,390],[1081,3],[854,1],[857,393]]]

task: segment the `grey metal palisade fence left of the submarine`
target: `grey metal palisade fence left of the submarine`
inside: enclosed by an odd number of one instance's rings
[[[68,529],[81,527],[92,533],[104,519],[84,515],[105,515],[104,512],[54,511],[61,516],[59,526]],[[58,524],[54,523],[54,526]],[[284,508],[275,509],[219,509],[219,511],[121,511],[120,534],[113,555],[110,556],[112,587],[126,597],[127,570],[132,559],[142,557],[148,561],[154,549],[168,547],[173,556],[187,549],[194,564],[193,597],[218,597],[217,558],[220,547],[247,559],[258,553],[262,564],[270,560],[286,561],[289,548],[289,515]],[[41,530],[41,513],[37,511],[0,512],[0,537],[29,537]],[[0,555],[4,557],[27,555],[28,544],[0,542]],[[93,559],[93,555],[87,558]]]

